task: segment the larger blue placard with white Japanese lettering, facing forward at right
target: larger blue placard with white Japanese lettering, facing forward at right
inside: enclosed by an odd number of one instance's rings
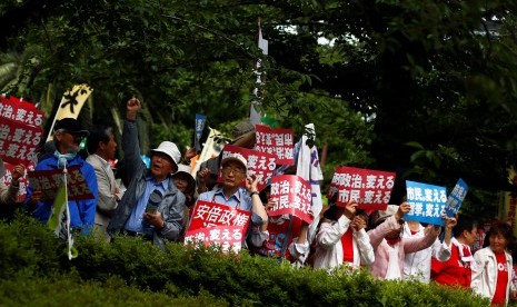
[[[447,202],[445,187],[406,180],[406,191],[407,202],[411,205],[405,216],[407,220],[443,225],[441,212]]]

